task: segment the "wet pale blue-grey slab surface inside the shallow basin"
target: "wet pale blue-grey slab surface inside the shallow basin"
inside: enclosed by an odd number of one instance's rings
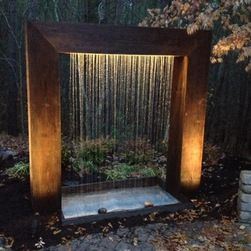
[[[145,207],[145,202],[153,206],[179,203],[159,186],[120,188],[91,193],[63,194],[62,213],[65,219],[97,215],[100,209],[107,213],[133,211]]]

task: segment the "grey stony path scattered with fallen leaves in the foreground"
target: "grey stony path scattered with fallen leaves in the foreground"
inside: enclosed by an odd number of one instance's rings
[[[251,250],[251,226],[233,220],[153,223],[89,234],[44,251]]]

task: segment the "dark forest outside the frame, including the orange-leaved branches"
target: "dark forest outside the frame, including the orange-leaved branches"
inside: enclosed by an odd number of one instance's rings
[[[0,0],[0,133],[27,135],[24,24],[212,29],[206,141],[250,156],[250,0]]]

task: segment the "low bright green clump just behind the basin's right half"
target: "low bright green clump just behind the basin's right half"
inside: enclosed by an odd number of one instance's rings
[[[105,170],[106,178],[108,180],[123,180],[130,177],[152,177],[157,176],[159,172],[157,169],[139,166],[128,165],[126,163],[118,164],[111,169]]]

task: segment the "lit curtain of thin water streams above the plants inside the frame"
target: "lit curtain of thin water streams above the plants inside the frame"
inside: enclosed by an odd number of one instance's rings
[[[74,140],[168,138],[171,56],[70,55]]]

